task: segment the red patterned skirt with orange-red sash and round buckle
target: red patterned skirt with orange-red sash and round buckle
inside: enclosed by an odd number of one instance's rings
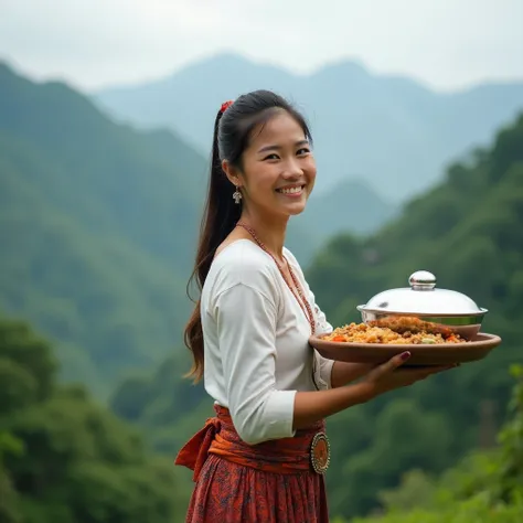
[[[324,423],[292,438],[247,445],[228,409],[215,410],[174,461],[194,470],[186,523],[328,523],[318,473],[329,463]]]

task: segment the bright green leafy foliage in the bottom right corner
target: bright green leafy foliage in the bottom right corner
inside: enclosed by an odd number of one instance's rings
[[[434,480],[413,470],[402,484],[382,492],[386,514],[352,523],[519,523],[523,517],[523,366],[514,366],[516,383],[510,418],[499,434],[500,446],[473,452]],[[339,519],[335,523],[342,523]]]

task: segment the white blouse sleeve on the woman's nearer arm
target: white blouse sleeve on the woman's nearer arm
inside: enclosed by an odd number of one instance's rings
[[[216,298],[215,318],[228,409],[239,437],[255,445],[293,436],[296,391],[276,389],[275,300],[237,282]]]

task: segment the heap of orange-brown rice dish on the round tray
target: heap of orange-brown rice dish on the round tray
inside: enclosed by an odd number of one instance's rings
[[[392,318],[367,323],[350,323],[322,337],[325,341],[384,344],[465,343],[466,339],[450,330],[418,318]]]

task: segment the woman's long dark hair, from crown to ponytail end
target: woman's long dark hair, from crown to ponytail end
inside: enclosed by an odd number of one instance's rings
[[[264,126],[275,113],[287,111],[303,129],[306,138],[312,142],[309,127],[303,116],[285,98],[270,90],[255,90],[239,96],[225,111],[218,111],[214,122],[214,137],[211,160],[211,177],[200,228],[194,270],[188,285],[196,277],[199,290],[205,278],[220,244],[236,226],[242,205],[233,200],[234,185],[222,169],[222,161],[242,169],[242,154],[248,147],[253,130]],[[200,316],[200,299],[185,327],[185,345],[192,351],[194,363],[188,376],[199,382],[203,376],[203,333]]]

